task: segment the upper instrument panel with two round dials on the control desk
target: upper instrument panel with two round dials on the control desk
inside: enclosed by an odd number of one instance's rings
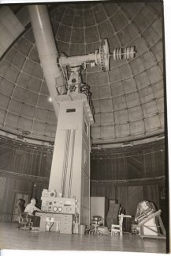
[[[43,212],[76,213],[76,199],[56,197],[55,190],[43,189],[41,200]]]

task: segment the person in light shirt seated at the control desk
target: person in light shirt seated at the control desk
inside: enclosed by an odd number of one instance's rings
[[[33,227],[39,227],[40,217],[35,216],[35,212],[42,212],[42,210],[37,208],[35,204],[36,200],[35,198],[32,198],[30,204],[28,204],[24,209],[24,212],[28,212],[28,219],[30,219],[33,222]]]

